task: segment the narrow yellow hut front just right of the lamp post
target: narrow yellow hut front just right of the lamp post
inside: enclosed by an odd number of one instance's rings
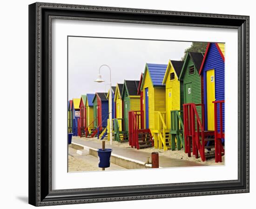
[[[114,102],[115,102],[115,118],[118,121],[119,124],[119,131],[122,131],[122,118],[123,118],[123,101],[122,101],[122,94],[123,91],[123,84],[116,84],[115,88],[115,97],[114,97]]]

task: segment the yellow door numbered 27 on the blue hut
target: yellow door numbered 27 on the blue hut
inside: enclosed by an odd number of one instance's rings
[[[215,74],[214,69],[206,72],[208,130],[214,131]]]

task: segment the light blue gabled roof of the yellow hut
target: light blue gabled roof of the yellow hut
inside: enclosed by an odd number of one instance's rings
[[[144,75],[148,71],[153,86],[163,86],[162,81],[166,72],[167,65],[146,63]],[[141,88],[144,85],[145,76],[143,76]]]

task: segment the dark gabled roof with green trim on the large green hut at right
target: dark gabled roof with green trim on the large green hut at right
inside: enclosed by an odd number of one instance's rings
[[[182,78],[184,72],[185,72],[185,68],[187,67],[189,58],[191,58],[191,60],[193,61],[195,68],[197,70],[197,72],[199,72],[201,64],[202,64],[202,60],[203,60],[203,53],[202,52],[187,52],[186,58],[184,60],[183,66],[182,66],[182,71],[180,73],[179,79]]]

